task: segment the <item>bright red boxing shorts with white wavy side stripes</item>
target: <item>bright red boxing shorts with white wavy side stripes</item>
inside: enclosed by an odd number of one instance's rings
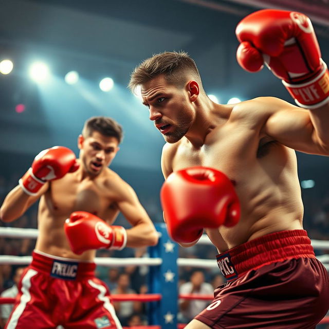
[[[96,265],[33,251],[7,329],[121,329]]]

